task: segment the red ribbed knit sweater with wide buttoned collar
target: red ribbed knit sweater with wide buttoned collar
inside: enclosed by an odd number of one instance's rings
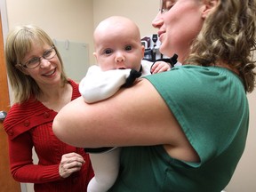
[[[75,100],[80,96],[78,84],[72,80],[69,80],[69,84],[73,87],[72,100]],[[56,115],[57,112],[32,98],[12,106],[4,120],[12,177],[20,182],[35,183],[36,192],[86,191],[93,177],[91,161],[83,148],[69,146],[57,139],[52,132],[52,121]],[[33,147],[38,164],[33,163]],[[84,156],[85,164],[80,172],[62,179],[59,174],[60,159],[63,154],[70,152]]]

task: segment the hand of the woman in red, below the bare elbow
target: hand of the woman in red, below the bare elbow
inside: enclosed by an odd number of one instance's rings
[[[68,153],[61,157],[59,173],[60,177],[67,178],[73,172],[78,172],[85,163],[83,156],[76,153]]]

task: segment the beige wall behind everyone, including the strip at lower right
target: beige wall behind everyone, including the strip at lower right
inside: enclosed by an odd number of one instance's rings
[[[91,63],[94,63],[93,29],[108,16],[131,18],[140,27],[141,36],[156,33],[151,21],[158,10],[158,0],[6,0],[6,7],[9,28],[32,23],[44,28],[52,38],[86,42],[90,46]],[[235,175],[226,188],[228,192],[254,192],[256,188],[256,91],[248,98],[251,114],[247,145]]]

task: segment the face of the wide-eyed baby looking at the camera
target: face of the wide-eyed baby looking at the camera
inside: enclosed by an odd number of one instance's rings
[[[144,47],[140,35],[132,28],[112,28],[97,36],[94,43],[94,55],[103,71],[118,68],[140,70]]]

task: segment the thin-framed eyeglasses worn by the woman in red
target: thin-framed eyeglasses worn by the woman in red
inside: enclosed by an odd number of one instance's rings
[[[28,60],[25,64],[20,64],[23,68],[36,68],[41,63],[41,58],[44,60],[51,60],[56,55],[55,47],[52,46],[51,49],[46,50],[41,57],[35,57],[31,60]]]

